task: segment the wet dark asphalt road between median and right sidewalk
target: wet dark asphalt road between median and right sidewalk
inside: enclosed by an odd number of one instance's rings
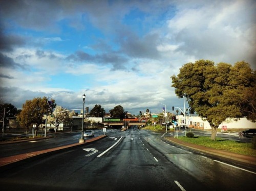
[[[254,190],[256,173],[164,141],[164,132],[108,137],[0,175],[2,190]],[[78,136],[79,138],[79,136]]]

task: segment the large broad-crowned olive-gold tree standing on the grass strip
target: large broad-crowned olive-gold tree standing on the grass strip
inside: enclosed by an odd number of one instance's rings
[[[185,96],[190,109],[209,122],[211,140],[216,139],[217,128],[226,118],[243,117],[245,105],[251,110],[244,97],[254,87],[255,71],[244,61],[232,66],[198,60],[183,65],[171,79],[176,95]]]

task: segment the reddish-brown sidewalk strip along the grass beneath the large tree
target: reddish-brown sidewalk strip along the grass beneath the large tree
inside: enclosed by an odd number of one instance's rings
[[[236,153],[231,153],[228,151],[223,151],[223,150],[217,150],[217,149],[212,149],[209,147],[204,147],[196,144],[190,144],[189,142],[182,141],[178,138],[174,137],[166,137],[165,138],[167,141],[173,142],[174,144],[178,144],[190,149],[194,149],[203,153],[208,153],[211,155],[217,155],[220,157],[228,158],[230,160],[235,160],[239,162],[244,162],[248,164],[253,164],[256,165],[256,157],[254,156],[249,156],[249,155],[241,155],[241,154],[236,154]]]

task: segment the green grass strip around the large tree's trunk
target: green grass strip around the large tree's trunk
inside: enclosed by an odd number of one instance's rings
[[[222,138],[216,138],[216,141],[213,141],[209,137],[188,138],[185,136],[179,136],[178,138],[196,145],[229,151],[232,153],[256,156],[256,150],[253,149],[252,144],[249,142],[245,143]]]

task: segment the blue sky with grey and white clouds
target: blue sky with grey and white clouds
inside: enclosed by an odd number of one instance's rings
[[[84,107],[107,113],[183,109],[170,77],[184,64],[244,60],[256,69],[255,8],[254,0],[0,0],[0,97],[18,109],[38,97],[81,109],[83,94]]]

